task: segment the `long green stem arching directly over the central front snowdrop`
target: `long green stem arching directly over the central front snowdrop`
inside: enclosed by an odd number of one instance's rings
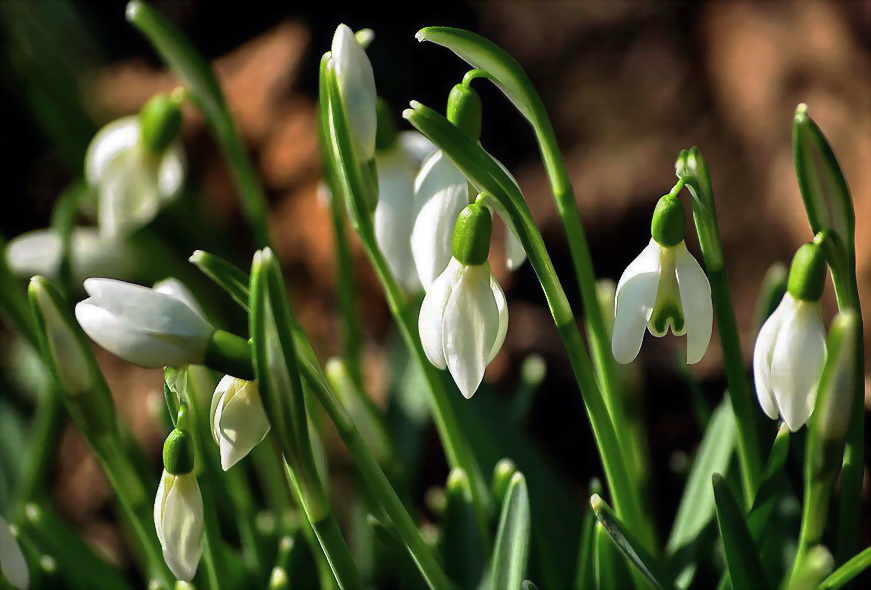
[[[563,338],[587,416],[593,427],[599,456],[617,513],[622,520],[631,522],[639,528],[638,536],[645,547],[652,551],[655,546],[655,534],[650,512],[642,508],[640,488],[634,485],[630,477],[628,460],[619,444],[617,432],[599,388],[593,363],[581,339],[571,305],[523,195],[498,162],[486,154],[477,143],[465,137],[447,119],[432,109],[418,103],[412,105],[413,108],[405,111],[403,116],[441,147],[478,190],[488,193],[487,198],[498,199],[514,223],[518,237],[541,283],[554,323]],[[593,305],[598,305],[595,299]]]

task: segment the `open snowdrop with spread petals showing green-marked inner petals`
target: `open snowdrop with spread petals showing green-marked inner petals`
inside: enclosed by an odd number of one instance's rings
[[[685,218],[680,201],[659,200],[651,240],[623,271],[617,283],[611,351],[617,362],[632,362],[645,329],[657,338],[669,329],[687,335],[687,363],[699,362],[711,341],[711,286],[683,241]]]

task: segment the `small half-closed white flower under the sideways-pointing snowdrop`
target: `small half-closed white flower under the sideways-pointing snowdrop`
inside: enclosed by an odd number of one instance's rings
[[[260,390],[253,381],[224,376],[212,396],[212,436],[224,471],[244,458],[269,432]]]

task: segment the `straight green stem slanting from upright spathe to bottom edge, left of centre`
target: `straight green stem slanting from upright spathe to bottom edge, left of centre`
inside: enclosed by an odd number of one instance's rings
[[[423,540],[423,537],[420,536],[420,531],[405,509],[402,500],[399,499],[399,496],[390,485],[390,481],[384,475],[375,456],[363,441],[351,417],[333,394],[326,376],[323,375],[320,367],[315,364],[313,359],[306,354],[306,351],[310,349],[310,345],[302,330],[295,323],[291,324],[291,329],[294,340],[297,342],[296,350],[299,354],[299,369],[303,379],[305,379],[307,385],[317,396],[324,410],[326,410],[333,421],[339,436],[354,458],[355,465],[363,474],[366,483],[372,490],[372,494],[378,498],[384,511],[393,521],[393,525],[402,537],[409,553],[411,553],[412,558],[414,558],[420,568],[421,574],[423,574],[431,588],[450,588],[451,584],[435,559],[431,548]],[[242,338],[238,336],[237,338],[244,342]],[[246,362],[245,358],[250,363],[250,356],[246,356],[232,360],[231,364],[235,365],[236,363]],[[221,359],[215,358],[213,360],[220,362]],[[224,370],[220,364],[216,364],[211,368],[218,371]]]

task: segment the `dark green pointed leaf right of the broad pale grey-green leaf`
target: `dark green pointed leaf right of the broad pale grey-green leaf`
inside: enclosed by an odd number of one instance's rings
[[[759,548],[750,535],[740,504],[722,475],[715,473],[711,481],[717,503],[717,525],[732,587],[743,589],[757,588],[760,584],[765,586],[765,571],[759,561]]]

